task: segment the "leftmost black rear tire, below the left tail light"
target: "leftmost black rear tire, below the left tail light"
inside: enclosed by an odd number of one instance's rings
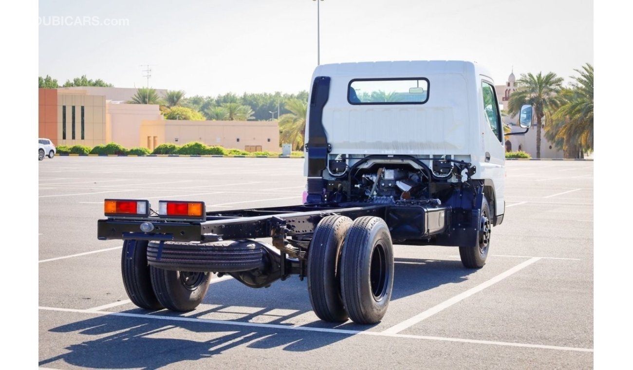
[[[148,309],[162,309],[152,289],[147,266],[147,242],[142,240],[125,240],[121,254],[121,273],[125,292],[135,305]]]

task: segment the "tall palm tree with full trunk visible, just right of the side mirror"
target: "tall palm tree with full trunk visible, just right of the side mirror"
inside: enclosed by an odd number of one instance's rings
[[[549,72],[543,75],[539,72],[536,76],[532,73],[521,75],[517,80],[517,90],[508,101],[508,113],[515,116],[521,110],[523,104],[534,107],[536,114],[536,157],[541,157],[541,128],[542,119],[548,109],[556,108],[560,104],[558,92],[562,89],[563,78],[556,73]]]

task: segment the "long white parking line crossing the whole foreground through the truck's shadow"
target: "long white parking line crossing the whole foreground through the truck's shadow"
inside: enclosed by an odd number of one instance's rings
[[[42,311],[59,311],[59,312],[75,312],[82,314],[98,314],[103,316],[120,316],[125,318],[135,319],[149,319],[149,320],[164,320],[164,321],[180,321],[184,323],[201,323],[201,324],[218,324],[218,325],[230,325],[230,326],[246,326],[251,328],[265,328],[275,330],[299,330],[299,331],[316,331],[320,333],[332,333],[342,335],[373,335],[373,336],[387,336],[391,338],[408,338],[418,340],[440,340],[443,342],[458,342],[458,343],[471,343],[471,344],[484,344],[484,345],[500,345],[508,347],[523,347],[523,348],[541,348],[549,350],[563,350],[573,352],[594,352],[592,348],[577,348],[577,347],[562,347],[556,345],[540,345],[532,343],[514,343],[514,342],[496,342],[492,340],[476,340],[465,338],[446,338],[443,336],[423,336],[423,335],[406,335],[397,333],[380,333],[377,331],[358,331],[358,330],[344,330],[344,329],[330,329],[330,328],[311,328],[310,326],[292,326],[292,325],[280,325],[280,324],[263,324],[263,323],[250,323],[244,321],[224,321],[224,320],[211,320],[211,319],[199,319],[199,318],[186,318],[182,316],[162,316],[160,314],[132,314],[128,312],[108,312],[108,311],[89,311],[80,309],[65,309],[57,307],[38,307]]]

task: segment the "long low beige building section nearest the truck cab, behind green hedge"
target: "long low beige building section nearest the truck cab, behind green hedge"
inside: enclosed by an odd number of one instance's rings
[[[141,141],[150,150],[165,143],[197,141],[247,152],[280,151],[277,121],[143,121]]]

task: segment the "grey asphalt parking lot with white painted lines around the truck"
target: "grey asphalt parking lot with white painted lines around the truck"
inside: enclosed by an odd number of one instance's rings
[[[506,162],[487,264],[456,247],[395,245],[389,311],[324,323],[292,276],[251,289],[213,276],[196,310],[145,311],[96,238],[104,198],[301,203],[303,159],[54,157],[39,162],[39,366],[586,368],[593,361],[593,162]]]

